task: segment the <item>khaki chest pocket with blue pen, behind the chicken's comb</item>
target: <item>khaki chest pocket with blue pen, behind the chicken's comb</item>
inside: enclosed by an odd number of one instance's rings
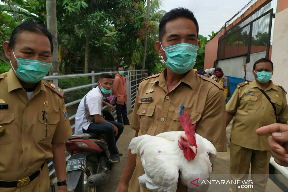
[[[180,113],[181,108],[176,109],[174,112],[174,116],[173,116],[173,125],[171,126],[171,130],[170,131],[183,131],[183,128],[180,125],[180,120],[179,120],[179,113]],[[197,112],[197,111],[184,111],[182,112],[182,114],[187,115],[187,113],[189,112],[189,118],[192,120],[191,124],[195,124],[198,123],[200,118],[201,118],[201,112]]]

